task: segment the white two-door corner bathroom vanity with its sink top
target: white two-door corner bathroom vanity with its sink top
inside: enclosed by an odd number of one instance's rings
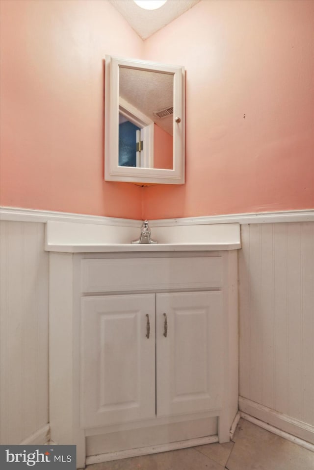
[[[78,468],[228,442],[239,226],[182,227],[182,238],[175,227],[177,243],[147,246],[100,244],[110,230],[88,224],[75,243],[73,225],[46,232],[52,441],[77,445]],[[172,240],[172,228],[153,228],[154,238]],[[188,243],[193,231],[199,243]]]

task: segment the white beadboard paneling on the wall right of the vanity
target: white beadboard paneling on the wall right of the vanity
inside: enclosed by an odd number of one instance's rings
[[[241,226],[240,396],[314,424],[314,223]]]

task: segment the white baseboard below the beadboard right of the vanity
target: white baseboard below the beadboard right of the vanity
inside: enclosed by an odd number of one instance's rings
[[[242,396],[239,396],[239,410],[241,412],[241,416],[246,414],[273,427],[274,429],[278,429],[298,438],[299,440],[310,443],[314,450],[314,426],[311,424],[291,418],[290,416],[279,413],[278,411],[267,408],[266,406],[260,405],[259,403],[248,400]],[[271,432],[276,434],[275,431]]]

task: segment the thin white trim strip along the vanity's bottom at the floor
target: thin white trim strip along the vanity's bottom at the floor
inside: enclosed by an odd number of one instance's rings
[[[126,459],[128,457],[139,457],[140,455],[157,454],[167,452],[168,450],[184,449],[195,447],[196,445],[212,444],[219,442],[218,436],[207,436],[187,441],[171,442],[169,444],[150,445],[138,449],[120,450],[118,452],[108,452],[106,454],[91,455],[86,457],[86,465],[98,464],[100,462],[109,462],[111,460]]]

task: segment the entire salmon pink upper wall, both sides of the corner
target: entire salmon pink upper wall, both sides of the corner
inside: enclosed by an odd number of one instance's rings
[[[149,219],[314,206],[313,1],[201,0],[145,42],[107,0],[0,5],[2,206]],[[185,67],[185,185],[104,181],[105,54]]]

